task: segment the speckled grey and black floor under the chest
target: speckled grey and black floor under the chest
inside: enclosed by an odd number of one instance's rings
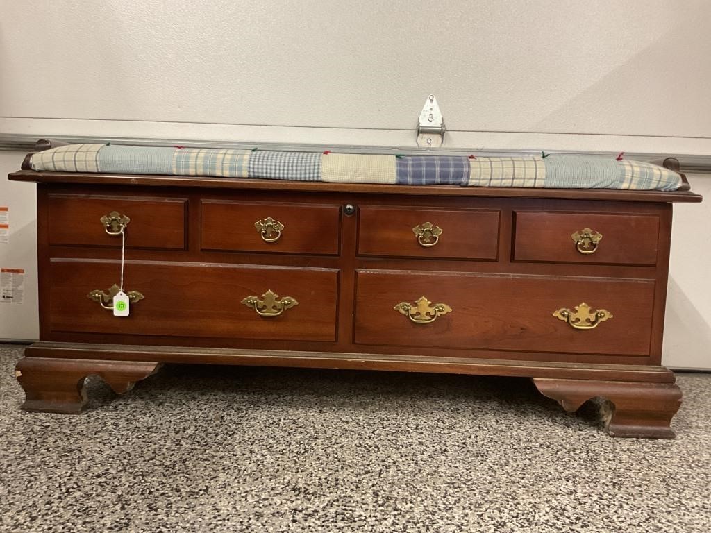
[[[19,410],[0,345],[0,531],[711,531],[711,375],[675,441],[613,439],[523,379],[165,367]]]

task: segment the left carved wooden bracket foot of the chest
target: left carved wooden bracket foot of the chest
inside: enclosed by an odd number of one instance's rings
[[[159,367],[157,362],[24,357],[17,363],[15,375],[26,395],[22,409],[77,414],[87,400],[85,377],[99,375],[114,392],[122,394]]]

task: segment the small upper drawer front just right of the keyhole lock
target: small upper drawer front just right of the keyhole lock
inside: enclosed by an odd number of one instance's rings
[[[424,228],[427,222],[442,230],[442,233],[433,236],[430,232],[427,235],[427,229]],[[419,227],[424,235],[417,235],[415,227]],[[493,261],[498,257],[498,227],[499,212],[493,210],[448,211],[366,206],[360,208],[358,254]]]

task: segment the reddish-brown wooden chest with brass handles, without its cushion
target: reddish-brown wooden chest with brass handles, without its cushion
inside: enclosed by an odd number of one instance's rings
[[[10,179],[38,183],[23,409],[80,412],[87,375],[125,392],[162,362],[404,370],[530,377],[567,411],[609,399],[613,436],[673,436],[661,353],[671,203],[701,200],[688,185]],[[115,317],[122,216],[134,301]]]

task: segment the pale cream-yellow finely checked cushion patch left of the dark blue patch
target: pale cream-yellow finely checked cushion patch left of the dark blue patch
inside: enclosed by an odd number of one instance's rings
[[[330,183],[395,183],[395,156],[327,154],[321,179]]]

